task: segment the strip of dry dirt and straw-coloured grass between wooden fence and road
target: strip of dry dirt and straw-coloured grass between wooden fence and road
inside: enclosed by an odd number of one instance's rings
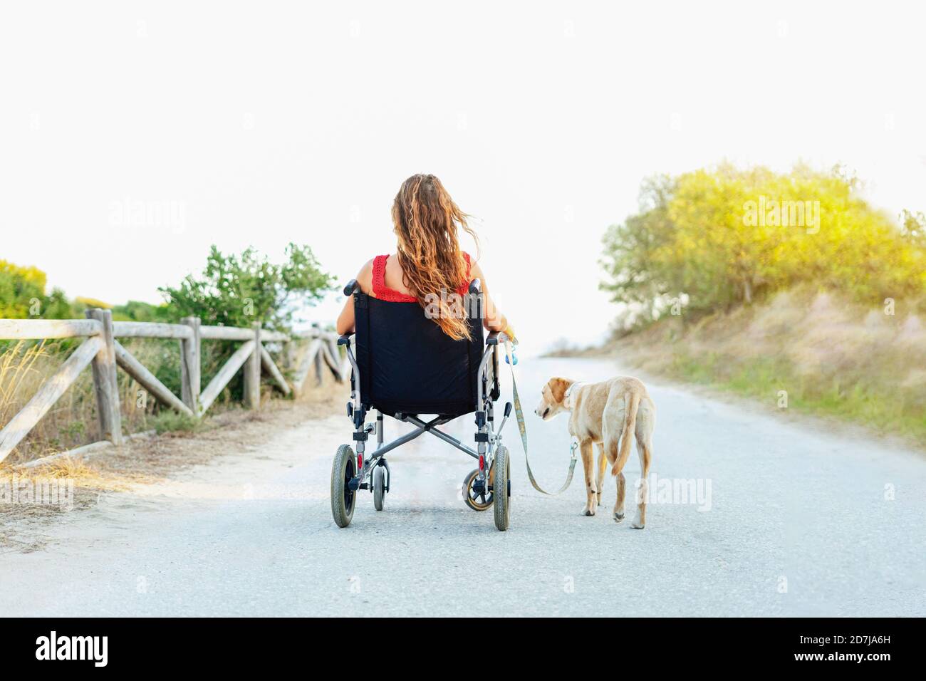
[[[298,400],[271,399],[259,411],[229,410],[190,433],[164,433],[104,449],[86,460],[61,458],[33,469],[0,468],[0,551],[42,549],[42,526],[93,508],[104,492],[169,480],[191,466],[257,449],[295,425],[344,408],[347,387],[328,381]]]

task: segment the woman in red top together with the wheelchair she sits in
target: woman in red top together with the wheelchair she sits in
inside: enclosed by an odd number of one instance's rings
[[[353,368],[347,415],[354,448],[338,448],[332,466],[332,515],[346,527],[357,493],[369,489],[382,511],[392,474],[385,454],[430,433],[478,460],[463,483],[469,508],[494,508],[495,526],[508,526],[510,476],[501,430],[494,427],[498,345],[513,335],[494,307],[478,262],[459,246],[459,231],[476,234],[467,215],[433,175],[413,175],[399,188],[392,209],[396,252],[369,260],[344,288],[347,300],[337,321],[339,345]],[[489,332],[484,337],[483,330]],[[353,340],[353,343],[351,341]],[[369,411],[375,425],[367,425]],[[474,413],[475,449],[438,426]],[[432,414],[424,421],[420,414]],[[383,444],[383,415],[415,430]],[[376,448],[365,458],[370,433]]]

